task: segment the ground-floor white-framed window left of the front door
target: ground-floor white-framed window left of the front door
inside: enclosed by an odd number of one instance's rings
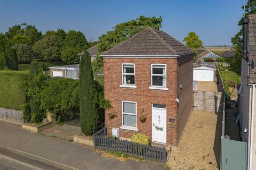
[[[122,101],[122,126],[137,128],[137,102]]]

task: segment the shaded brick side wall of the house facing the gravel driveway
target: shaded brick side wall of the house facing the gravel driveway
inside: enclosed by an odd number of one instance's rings
[[[181,134],[193,109],[193,54],[178,58],[177,96],[179,97],[177,121],[179,143]],[[182,88],[180,85],[182,84]]]

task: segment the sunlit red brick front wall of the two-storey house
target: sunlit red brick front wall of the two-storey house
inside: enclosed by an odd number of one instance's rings
[[[123,88],[122,84],[122,63],[135,64],[135,85],[137,88]],[[151,86],[151,64],[166,64],[166,84],[169,90],[153,90]],[[151,139],[151,104],[166,105],[166,141],[167,145],[177,145],[177,59],[175,58],[104,58],[104,89],[105,98],[110,100],[113,108],[105,112],[105,121],[108,133],[112,128],[122,126],[122,100],[137,102],[137,128],[139,131],[120,129],[120,136],[131,138],[133,133],[145,133]],[[185,68],[187,69],[187,68]],[[190,69],[190,67],[189,67]],[[193,74],[193,70],[191,68]],[[193,79],[193,76],[191,77]],[[192,80],[191,80],[192,88]],[[191,95],[192,96],[192,95]],[[144,110],[144,112],[142,112]],[[115,112],[115,118],[110,119],[107,115]],[[142,123],[139,116],[145,114],[146,122]],[[175,120],[169,123],[169,119]]]

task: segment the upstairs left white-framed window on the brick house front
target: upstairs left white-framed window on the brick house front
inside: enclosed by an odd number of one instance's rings
[[[135,85],[135,64],[122,64],[122,84],[127,86]]]

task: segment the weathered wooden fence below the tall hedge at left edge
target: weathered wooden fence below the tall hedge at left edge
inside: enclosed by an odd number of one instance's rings
[[[22,111],[0,107],[0,118],[12,122],[24,123]]]

